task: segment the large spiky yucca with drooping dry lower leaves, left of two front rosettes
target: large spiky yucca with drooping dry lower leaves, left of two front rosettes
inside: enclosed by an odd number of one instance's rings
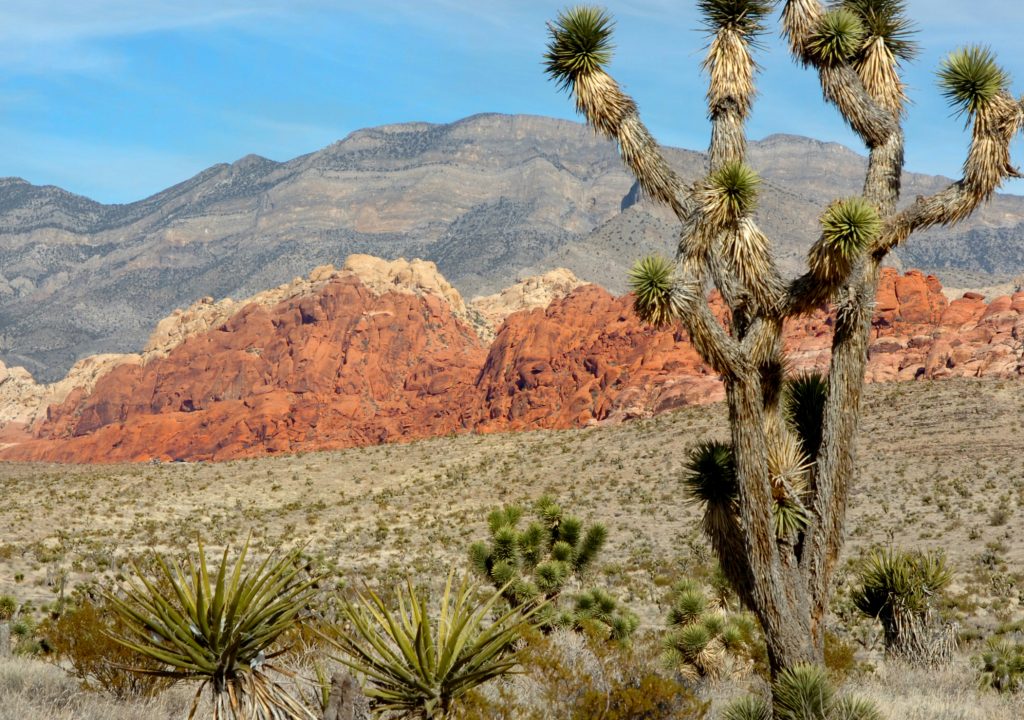
[[[306,577],[298,550],[247,569],[248,551],[247,540],[232,565],[224,548],[214,573],[202,541],[184,562],[154,554],[154,578],[134,564],[122,591],[106,596],[125,627],[114,638],[164,666],[129,670],[200,681],[189,719],[204,690],[215,720],[313,718],[268,672],[284,673],[269,662],[272,647],[299,623],[317,578]]]

